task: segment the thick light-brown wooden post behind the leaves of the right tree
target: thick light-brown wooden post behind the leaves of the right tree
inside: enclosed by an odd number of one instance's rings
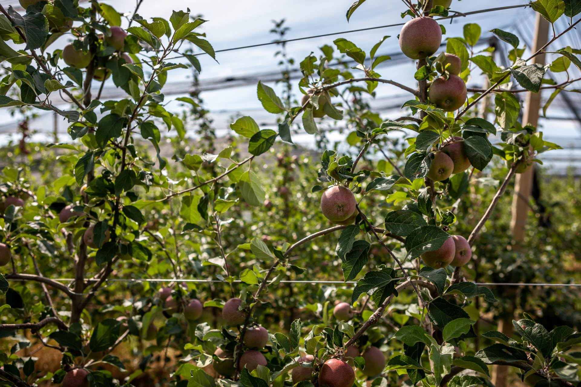
[[[539,13],[535,23],[535,37],[533,39],[532,52],[536,52],[547,43],[549,23]],[[544,63],[545,55],[540,54],[533,58],[533,63]],[[522,125],[536,126],[539,121],[539,109],[541,106],[541,92],[526,94],[525,108],[522,115]],[[534,163],[533,163],[534,165]],[[534,167],[531,165],[515,179],[514,194],[512,196],[511,233],[515,249],[522,249],[522,241],[525,238],[526,218],[529,212],[530,188],[533,181]],[[512,310],[512,308],[508,308]],[[512,314],[508,313],[498,322],[498,331],[508,337],[512,335]],[[492,383],[496,387],[508,386],[508,367],[494,366]]]

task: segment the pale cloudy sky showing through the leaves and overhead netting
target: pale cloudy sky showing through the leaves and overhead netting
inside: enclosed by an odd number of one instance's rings
[[[135,0],[105,0],[121,13],[131,15],[135,8]],[[331,32],[341,32],[347,30],[356,30],[358,28],[367,28],[375,26],[385,26],[386,24],[401,23],[400,13],[404,10],[404,5],[400,0],[367,0],[356,10],[347,22],[345,13],[353,0],[252,0],[241,2],[239,0],[166,0],[153,1],[144,0],[139,8],[139,15],[144,18],[153,16],[162,16],[168,19],[171,10],[191,9],[192,15],[202,15],[203,19],[208,20],[198,32],[205,32],[207,39],[213,45],[214,49],[227,49],[238,46],[246,46],[270,42],[275,36],[269,34],[272,28],[272,20],[285,19],[285,25],[290,27],[287,39],[309,37],[318,34],[328,34]],[[16,3],[15,0],[2,0],[3,5]],[[510,5],[519,5],[527,3],[525,0],[489,0],[486,2],[475,0],[454,0],[452,10],[457,12],[470,12],[483,8],[495,8]],[[406,19],[407,20],[407,19]],[[404,20],[405,21],[405,20]],[[126,22],[125,22],[126,23]],[[530,40],[532,34],[531,26],[534,23],[534,12],[529,9],[511,9],[500,10],[497,12],[481,13],[468,17],[458,17],[453,23],[450,21],[442,22],[446,27],[446,37],[457,37],[462,35],[462,27],[467,23],[478,23],[482,27],[482,35],[491,35],[488,30],[492,28],[501,28],[511,31],[519,36],[526,36],[521,39],[521,46],[527,39]],[[126,24],[124,24],[126,26]],[[563,28],[566,27],[566,24]],[[378,28],[370,31],[360,31],[345,34],[337,34],[328,37],[306,39],[296,42],[289,42],[286,45],[288,55],[293,57],[297,63],[304,59],[309,53],[320,54],[318,47],[328,44],[332,45],[333,39],[346,38],[360,46],[365,52],[385,35],[390,35],[386,39],[378,53],[396,53],[399,52],[397,35],[401,27]],[[573,32],[574,33],[574,32]],[[64,46],[68,38],[61,38],[56,42],[52,49]],[[571,44],[575,44],[573,41]],[[555,43],[555,49],[561,48]],[[578,45],[581,48],[581,45]],[[259,48],[250,48],[243,50],[232,50],[229,52],[217,53],[216,59],[219,63],[214,62],[207,55],[199,56],[202,65],[200,82],[209,81],[210,79],[235,77],[246,74],[256,74],[269,71],[277,71],[278,59],[274,57],[278,46],[262,46]],[[177,62],[173,61],[173,62]],[[389,62],[389,61],[388,61]],[[394,79],[408,86],[414,86],[414,66],[412,61],[400,62],[397,66],[384,66],[378,68],[378,72],[383,78]],[[387,63],[384,63],[387,64]],[[478,76],[479,71],[475,71],[475,76],[471,79],[471,86],[480,86],[482,78]],[[579,75],[577,75],[578,77]],[[188,70],[174,70],[170,72],[168,84],[187,84],[191,82]],[[295,82],[296,83],[296,82]],[[275,87],[274,84],[270,84]],[[578,88],[581,88],[579,85]],[[295,89],[298,96],[299,91]],[[376,103],[372,105],[383,106],[381,100],[391,99],[394,95],[401,95],[401,90],[390,85],[380,85],[377,89]],[[546,99],[550,92],[545,92],[543,99]],[[175,95],[172,97],[178,97]],[[207,91],[202,93],[205,106],[213,113],[215,118],[218,134],[226,134],[229,131],[228,124],[236,114],[251,115],[261,124],[270,124],[275,122],[276,117],[272,114],[261,110],[261,105],[256,97],[256,85],[243,86],[238,88],[228,88],[216,91]],[[405,101],[407,97],[402,96]],[[180,104],[170,104],[171,111],[178,113],[181,109]],[[13,131],[10,129],[10,122],[16,122],[15,118],[6,114],[6,109],[0,111],[0,144],[5,143],[8,138],[3,132]],[[397,118],[401,111],[386,111],[382,118]],[[395,117],[397,115],[397,117]],[[548,114],[549,115],[549,114]],[[550,111],[553,116],[571,116],[568,111],[562,111],[555,103],[555,108]],[[558,125],[553,122],[541,122],[541,125],[550,128],[550,135],[554,138],[579,138],[581,128],[579,123],[570,121],[558,121]],[[52,126],[52,117],[44,117],[31,122],[31,128],[42,129]],[[59,130],[63,133],[62,140],[66,136],[66,123],[60,122]],[[546,137],[548,134],[546,135]],[[297,142],[309,145],[312,143],[309,135],[297,137]]]

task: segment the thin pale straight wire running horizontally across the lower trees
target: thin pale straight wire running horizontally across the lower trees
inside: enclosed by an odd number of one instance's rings
[[[74,278],[56,278],[51,279],[53,281],[58,282],[74,282]],[[27,281],[21,279],[15,279],[10,281]],[[98,279],[85,279],[85,282],[96,282]],[[123,279],[123,278],[114,278],[109,279],[107,282],[185,282],[185,283],[228,283],[227,281],[221,280],[188,280],[188,279],[171,279],[171,278],[139,278],[139,279]],[[242,283],[241,280],[234,280],[233,283]],[[354,285],[357,281],[299,281],[299,280],[282,280],[278,281],[279,283],[284,284],[343,284],[343,285]],[[476,282],[476,285],[483,285],[483,286],[541,286],[541,287],[581,287],[581,284],[548,284],[548,283],[508,283],[508,282]]]

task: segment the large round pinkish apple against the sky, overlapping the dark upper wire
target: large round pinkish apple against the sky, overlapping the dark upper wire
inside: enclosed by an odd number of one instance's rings
[[[426,59],[442,43],[442,28],[431,17],[411,19],[400,32],[401,52],[411,59]]]

